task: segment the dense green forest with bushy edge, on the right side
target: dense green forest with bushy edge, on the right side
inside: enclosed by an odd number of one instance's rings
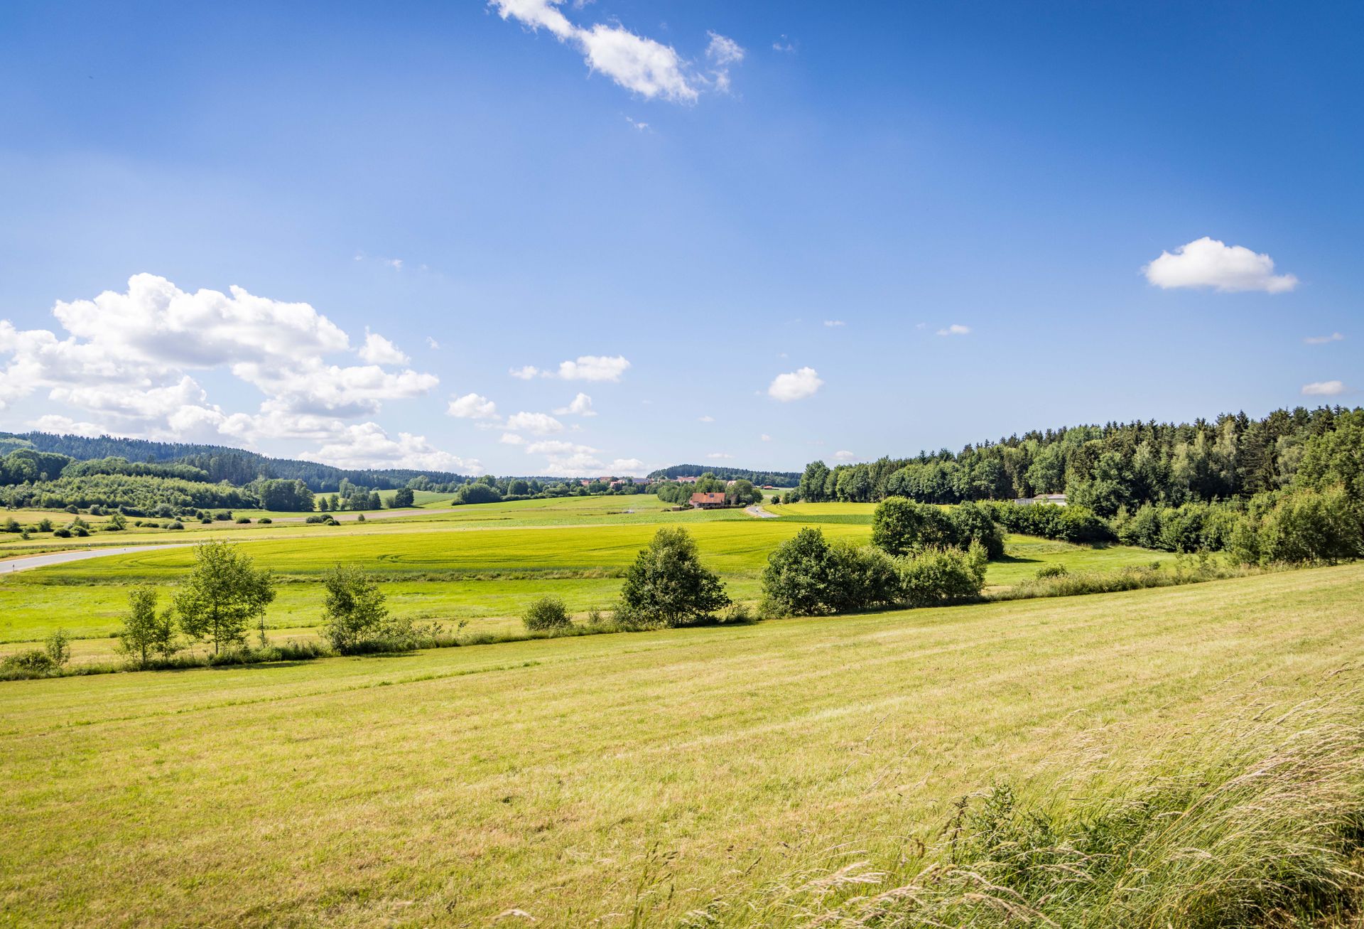
[[[1068,506],[1007,502],[1053,492],[1064,492]],[[1297,559],[1282,548],[1311,527],[1308,535],[1318,536],[1311,558],[1356,558],[1364,555],[1364,409],[1075,426],[956,454],[944,449],[835,468],[812,461],[788,494],[813,502],[895,497],[997,501],[990,512],[1005,528],[1053,539],[1236,550],[1243,558],[1259,546],[1267,561]]]

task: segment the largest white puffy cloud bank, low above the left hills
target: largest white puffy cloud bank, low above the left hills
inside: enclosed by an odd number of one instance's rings
[[[0,407],[35,392],[87,413],[40,420],[53,428],[100,428],[119,435],[169,439],[293,438],[331,441],[345,419],[378,412],[389,400],[421,396],[435,375],[391,371],[405,356],[368,333],[359,349],[363,366],[329,364],[351,340],[307,303],[255,296],[240,286],[226,293],[181,291],[164,277],[135,274],[124,292],[91,300],[57,301],[53,316],[63,336],[18,330],[0,321]],[[226,370],[265,394],[256,412],[229,412],[210,402],[191,371]]]

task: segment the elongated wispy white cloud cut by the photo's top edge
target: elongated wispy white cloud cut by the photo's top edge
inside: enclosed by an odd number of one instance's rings
[[[693,102],[698,82],[689,78],[686,64],[670,45],[636,35],[619,25],[596,23],[588,29],[569,22],[559,10],[562,0],[490,0],[502,19],[516,19],[532,30],[544,29],[582,53],[593,72],[641,97],[662,97]]]

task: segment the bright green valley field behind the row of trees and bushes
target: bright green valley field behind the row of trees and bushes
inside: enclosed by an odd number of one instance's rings
[[[462,619],[479,629],[501,630],[546,593],[562,596],[576,613],[607,608],[615,600],[621,573],[660,525],[687,527],[705,562],[726,580],[730,595],[750,603],[758,599],[768,554],[801,528],[820,522],[827,536],[854,540],[865,540],[870,532],[869,505],[813,503],[772,510],[794,510],[799,518],[757,520],[742,510],[674,513],[656,497],[640,495],[462,506],[451,513],[376,518],[363,525],[217,522],[203,527],[214,531],[194,535],[95,533],[65,540],[70,544],[61,550],[86,548],[90,543],[180,546],[15,574],[5,574],[0,562],[0,652],[64,629],[76,638],[104,640],[79,647],[78,662],[109,658],[113,643],[106,637],[127,608],[128,585],[150,583],[169,592],[192,561],[184,543],[203,539],[250,542],[251,555],[286,581],[266,617],[271,629],[315,628],[321,591],[314,581],[337,562],[355,562],[383,581],[389,606],[398,615]],[[868,520],[844,521],[862,512]],[[57,548],[38,544],[10,554],[52,550]],[[1172,558],[1127,546],[1094,548],[1012,536],[1005,559],[990,565],[988,584],[1016,584],[1045,563],[1108,570]]]

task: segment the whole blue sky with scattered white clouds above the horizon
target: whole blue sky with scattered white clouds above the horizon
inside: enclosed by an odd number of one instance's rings
[[[5,4],[0,428],[625,473],[1356,405],[1361,27]]]

